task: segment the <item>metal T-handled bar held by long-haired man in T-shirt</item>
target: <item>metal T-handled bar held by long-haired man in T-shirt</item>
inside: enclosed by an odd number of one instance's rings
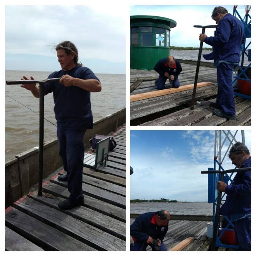
[[[6,81],[10,84],[39,84],[39,172],[38,172],[38,196],[42,196],[42,183],[44,171],[44,84],[47,82],[58,82],[61,78],[49,78],[37,80]]]

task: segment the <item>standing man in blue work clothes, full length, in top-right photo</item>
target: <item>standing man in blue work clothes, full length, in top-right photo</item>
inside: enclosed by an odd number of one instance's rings
[[[216,102],[211,103],[211,106],[217,108],[213,111],[215,115],[234,120],[236,112],[232,74],[234,66],[240,61],[241,45],[246,40],[244,29],[242,22],[224,7],[215,7],[211,17],[218,24],[214,37],[199,35],[200,41],[212,46],[212,52],[204,54],[204,58],[214,59],[214,66],[217,67],[218,93]]]

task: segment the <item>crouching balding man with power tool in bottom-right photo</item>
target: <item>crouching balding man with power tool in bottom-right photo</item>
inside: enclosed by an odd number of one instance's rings
[[[146,251],[148,246],[151,246],[153,251],[167,251],[163,240],[169,220],[170,213],[166,210],[146,212],[136,218],[130,230],[134,240],[131,251]]]

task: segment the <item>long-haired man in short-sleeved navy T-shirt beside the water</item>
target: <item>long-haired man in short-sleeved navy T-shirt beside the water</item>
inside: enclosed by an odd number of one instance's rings
[[[56,46],[56,51],[62,69],[51,73],[48,78],[61,79],[59,82],[45,83],[44,94],[53,92],[59,155],[67,172],[58,179],[68,181],[70,192],[68,199],[59,202],[59,208],[71,209],[84,204],[84,134],[86,129],[92,129],[93,126],[90,92],[101,91],[101,83],[89,68],[78,63],[78,51],[73,43],[61,42]],[[30,79],[33,80],[33,77]],[[28,78],[24,76],[22,80]],[[21,87],[39,98],[39,87],[36,84],[25,84]]]

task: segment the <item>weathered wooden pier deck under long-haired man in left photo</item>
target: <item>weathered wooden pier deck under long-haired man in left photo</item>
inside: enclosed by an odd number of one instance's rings
[[[69,192],[56,174],[42,197],[29,193],[5,210],[5,250],[125,251],[125,127],[113,137],[108,165],[83,170],[84,205],[59,209]]]

